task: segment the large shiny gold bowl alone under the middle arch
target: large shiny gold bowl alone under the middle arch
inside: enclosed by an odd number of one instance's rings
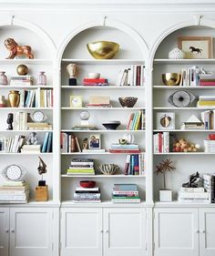
[[[87,44],[88,52],[98,59],[112,58],[118,53],[119,45],[109,41],[97,41]]]

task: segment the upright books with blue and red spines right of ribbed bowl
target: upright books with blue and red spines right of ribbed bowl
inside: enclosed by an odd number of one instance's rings
[[[128,155],[123,173],[125,175],[145,175],[144,155]]]

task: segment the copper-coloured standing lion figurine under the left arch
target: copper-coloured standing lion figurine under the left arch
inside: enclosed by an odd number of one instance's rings
[[[10,51],[10,55],[6,58],[15,58],[15,56],[26,56],[34,58],[30,46],[18,46],[13,38],[5,39],[5,47]]]

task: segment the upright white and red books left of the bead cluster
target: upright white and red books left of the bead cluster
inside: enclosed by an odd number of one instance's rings
[[[153,135],[154,153],[169,153],[169,131]]]

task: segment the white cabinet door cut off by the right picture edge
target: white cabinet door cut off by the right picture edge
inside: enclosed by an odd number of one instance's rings
[[[215,255],[215,209],[200,209],[200,256]]]

